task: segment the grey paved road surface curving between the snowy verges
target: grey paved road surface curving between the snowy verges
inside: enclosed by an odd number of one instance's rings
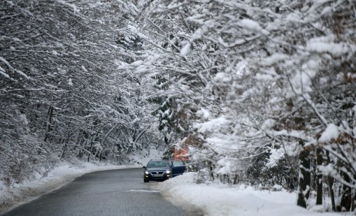
[[[143,183],[143,168],[99,171],[76,178],[5,215],[190,215]]]

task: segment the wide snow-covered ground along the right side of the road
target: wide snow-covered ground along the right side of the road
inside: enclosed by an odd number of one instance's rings
[[[176,206],[200,209],[204,215],[304,216],[352,215],[351,213],[319,213],[296,205],[297,194],[285,191],[262,191],[247,185],[229,186],[218,183],[195,183],[197,173],[185,173],[159,184],[166,199]],[[315,211],[313,211],[313,209]]]

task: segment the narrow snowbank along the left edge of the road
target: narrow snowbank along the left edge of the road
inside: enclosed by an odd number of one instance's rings
[[[74,166],[64,162],[50,171],[45,177],[38,177],[36,180],[23,182],[20,185],[14,184],[8,188],[0,181],[0,215],[10,208],[19,206],[24,202],[31,201],[38,196],[51,192],[85,173],[136,167],[141,166],[116,166],[104,163],[83,163]]]

